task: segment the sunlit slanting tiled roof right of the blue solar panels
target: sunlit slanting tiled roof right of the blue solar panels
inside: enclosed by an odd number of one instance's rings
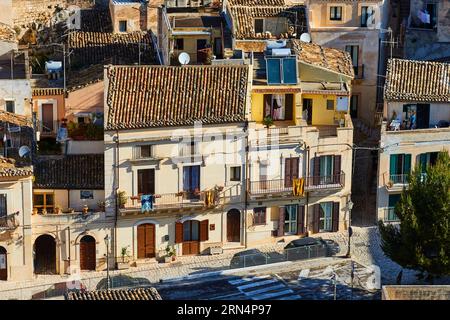
[[[350,54],[346,51],[323,47],[315,43],[307,43],[297,39],[291,40],[290,44],[297,54],[297,59],[300,61],[352,78],[355,75]]]

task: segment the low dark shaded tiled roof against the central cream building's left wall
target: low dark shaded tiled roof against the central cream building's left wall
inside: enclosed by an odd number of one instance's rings
[[[104,189],[103,154],[41,158],[34,166],[35,188]]]

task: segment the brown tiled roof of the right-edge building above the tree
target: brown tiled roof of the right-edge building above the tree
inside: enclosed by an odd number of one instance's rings
[[[390,59],[384,98],[390,101],[450,102],[450,64]]]

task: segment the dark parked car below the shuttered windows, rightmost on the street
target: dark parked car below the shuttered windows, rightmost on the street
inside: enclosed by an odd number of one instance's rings
[[[331,257],[339,251],[339,245],[335,241],[313,237],[293,240],[284,247],[287,260]]]

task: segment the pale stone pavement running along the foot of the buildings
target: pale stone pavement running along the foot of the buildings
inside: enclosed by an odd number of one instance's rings
[[[382,284],[395,284],[401,267],[388,259],[380,248],[380,237],[377,227],[353,227],[352,258],[362,265],[377,265],[381,269]],[[347,251],[347,232],[322,233],[324,239],[332,239],[339,243],[343,255]],[[285,243],[269,244],[258,247],[263,252],[282,252]],[[172,263],[152,263],[127,270],[110,271],[113,286],[120,285],[148,285],[159,282],[160,279],[180,277],[228,269],[232,256],[239,250],[226,251],[217,256],[187,256],[177,257]],[[86,289],[92,290],[105,286],[106,272],[83,272],[75,275],[40,275],[35,279],[23,282],[0,283],[0,299],[30,299],[33,295],[48,296],[48,289],[53,284],[64,284],[70,288],[77,288],[81,281]],[[402,284],[418,283],[415,272],[403,271]],[[54,293],[53,293],[54,294]]]

